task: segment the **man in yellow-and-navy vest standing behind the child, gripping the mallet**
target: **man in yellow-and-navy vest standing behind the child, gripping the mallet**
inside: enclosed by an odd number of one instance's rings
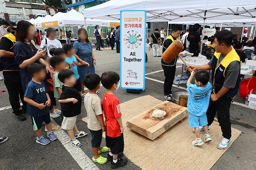
[[[223,136],[222,141],[217,147],[219,149],[226,149],[231,143],[229,109],[231,101],[238,93],[240,85],[240,58],[231,46],[233,34],[229,30],[219,31],[214,37],[216,52],[210,62],[202,66],[189,66],[188,70],[212,69],[213,90],[206,113],[208,127],[213,123],[217,112]],[[200,131],[203,132],[201,129]]]

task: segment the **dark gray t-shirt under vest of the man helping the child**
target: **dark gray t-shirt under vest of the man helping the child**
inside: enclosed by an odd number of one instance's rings
[[[223,56],[222,54],[220,54],[219,57],[219,61],[218,64],[220,64],[220,62],[222,62],[222,60],[224,59],[225,56]],[[213,64],[213,57],[212,59],[208,62],[208,64],[210,66],[212,66]],[[224,87],[229,88],[229,89],[233,89],[235,88],[235,84],[236,84],[236,80],[238,78],[238,75],[240,73],[240,62],[238,61],[233,61],[231,62],[228,67],[226,68],[225,71],[225,81],[224,81]]]

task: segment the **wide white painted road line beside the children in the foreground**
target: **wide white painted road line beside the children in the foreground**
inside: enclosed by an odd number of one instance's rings
[[[57,123],[53,120],[53,124]],[[75,159],[76,163],[83,170],[100,170],[94,162],[82,151],[79,147],[74,147],[70,143],[70,137],[64,130],[55,131],[54,134],[58,137],[58,140],[62,143],[65,149],[70,153],[70,155]]]

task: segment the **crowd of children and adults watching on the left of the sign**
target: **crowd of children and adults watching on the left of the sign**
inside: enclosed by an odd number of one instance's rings
[[[96,36],[100,35],[98,27],[95,28]],[[110,39],[115,38],[117,47],[120,43],[119,30],[118,26],[116,32],[110,33]],[[87,133],[78,130],[76,117],[81,113],[84,102],[92,136],[92,160],[99,164],[111,161],[111,168],[125,166],[127,159],[122,159],[122,114],[119,100],[114,95],[120,86],[119,75],[115,72],[104,72],[101,77],[95,74],[96,59],[86,29],[78,30],[78,41],[73,45],[63,46],[55,39],[57,31],[51,27],[45,30],[46,38],[41,41],[41,49],[36,48],[33,41],[35,30],[28,21],[19,21],[16,28],[1,37],[4,83],[15,117],[24,121],[24,114],[30,115],[39,144],[47,145],[56,140],[54,132],[64,129],[68,132],[71,145],[80,147],[82,143],[78,138]],[[98,50],[99,45],[100,42]],[[106,89],[102,101],[97,95],[100,82]],[[85,87],[89,92],[85,92]],[[61,109],[57,108],[56,100]],[[57,117],[62,119],[62,126],[51,123],[52,118]],[[42,135],[42,124],[45,124],[47,137]],[[102,132],[105,131],[106,147],[101,147]],[[0,143],[7,139],[0,137]],[[103,152],[108,152],[107,158],[99,155]]]

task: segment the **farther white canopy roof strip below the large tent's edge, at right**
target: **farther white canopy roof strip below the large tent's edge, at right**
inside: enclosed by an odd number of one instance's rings
[[[169,24],[203,24],[203,21],[171,21]],[[256,26],[256,18],[247,18],[247,19],[226,19],[226,20],[206,20],[206,26],[214,26],[214,27],[255,27]]]

